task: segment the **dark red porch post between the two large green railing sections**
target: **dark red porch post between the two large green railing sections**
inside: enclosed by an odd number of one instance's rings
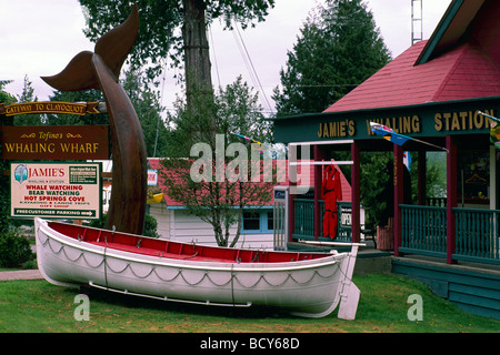
[[[447,135],[447,263],[456,264],[452,260],[456,243],[456,224],[453,209],[457,206],[457,143],[451,135]]]

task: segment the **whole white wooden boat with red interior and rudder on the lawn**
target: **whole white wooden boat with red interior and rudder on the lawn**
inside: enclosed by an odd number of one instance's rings
[[[349,253],[213,247],[36,219],[37,257],[47,281],[208,305],[266,305],[322,317],[339,304],[353,320],[360,292]]]

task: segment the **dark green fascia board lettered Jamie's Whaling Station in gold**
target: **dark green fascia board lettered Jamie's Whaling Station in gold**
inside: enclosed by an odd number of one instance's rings
[[[477,111],[498,115],[500,97],[288,116],[274,121],[273,141],[284,144],[341,140],[380,141],[380,135],[371,132],[370,122],[389,125],[398,133],[417,139],[464,134],[489,136],[489,123],[481,116],[476,120]],[[484,142],[488,144],[489,139]],[[412,142],[410,145],[416,144]],[[392,149],[392,144],[387,144],[386,148]]]

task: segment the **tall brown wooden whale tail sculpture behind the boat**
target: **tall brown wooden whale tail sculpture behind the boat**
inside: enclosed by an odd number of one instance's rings
[[[142,234],[146,216],[147,154],[136,110],[118,78],[139,30],[137,6],[120,26],[104,33],[94,52],[83,51],[53,77],[42,77],[60,91],[99,89],[108,109],[112,145],[112,193],[107,229]]]

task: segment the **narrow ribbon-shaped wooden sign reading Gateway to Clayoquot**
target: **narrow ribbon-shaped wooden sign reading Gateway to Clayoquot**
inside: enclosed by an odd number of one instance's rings
[[[33,113],[67,113],[86,115],[89,113],[101,113],[98,110],[99,102],[23,102],[3,104],[0,103],[0,114],[7,116],[17,114],[33,114]]]

